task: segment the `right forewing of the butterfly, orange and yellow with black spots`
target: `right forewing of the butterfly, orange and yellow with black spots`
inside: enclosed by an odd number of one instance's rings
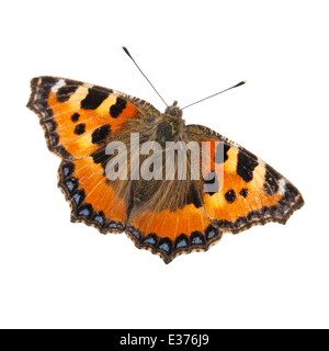
[[[268,222],[285,224],[292,213],[303,206],[298,190],[253,154],[206,127],[190,125],[188,128],[191,138],[208,141],[203,152],[212,165],[211,170],[217,163],[217,171],[209,174],[212,180],[205,181],[217,189],[211,192],[203,189],[203,203],[218,229],[239,233]],[[222,143],[220,157],[218,143]]]

